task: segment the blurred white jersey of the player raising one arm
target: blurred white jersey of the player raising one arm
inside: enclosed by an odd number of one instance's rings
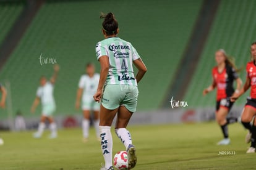
[[[40,97],[42,105],[48,105],[48,104],[55,105],[53,91],[54,91],[54,86],[49,82],[47,82],[45,86],[38,87],[36,91],[36,96]]]

